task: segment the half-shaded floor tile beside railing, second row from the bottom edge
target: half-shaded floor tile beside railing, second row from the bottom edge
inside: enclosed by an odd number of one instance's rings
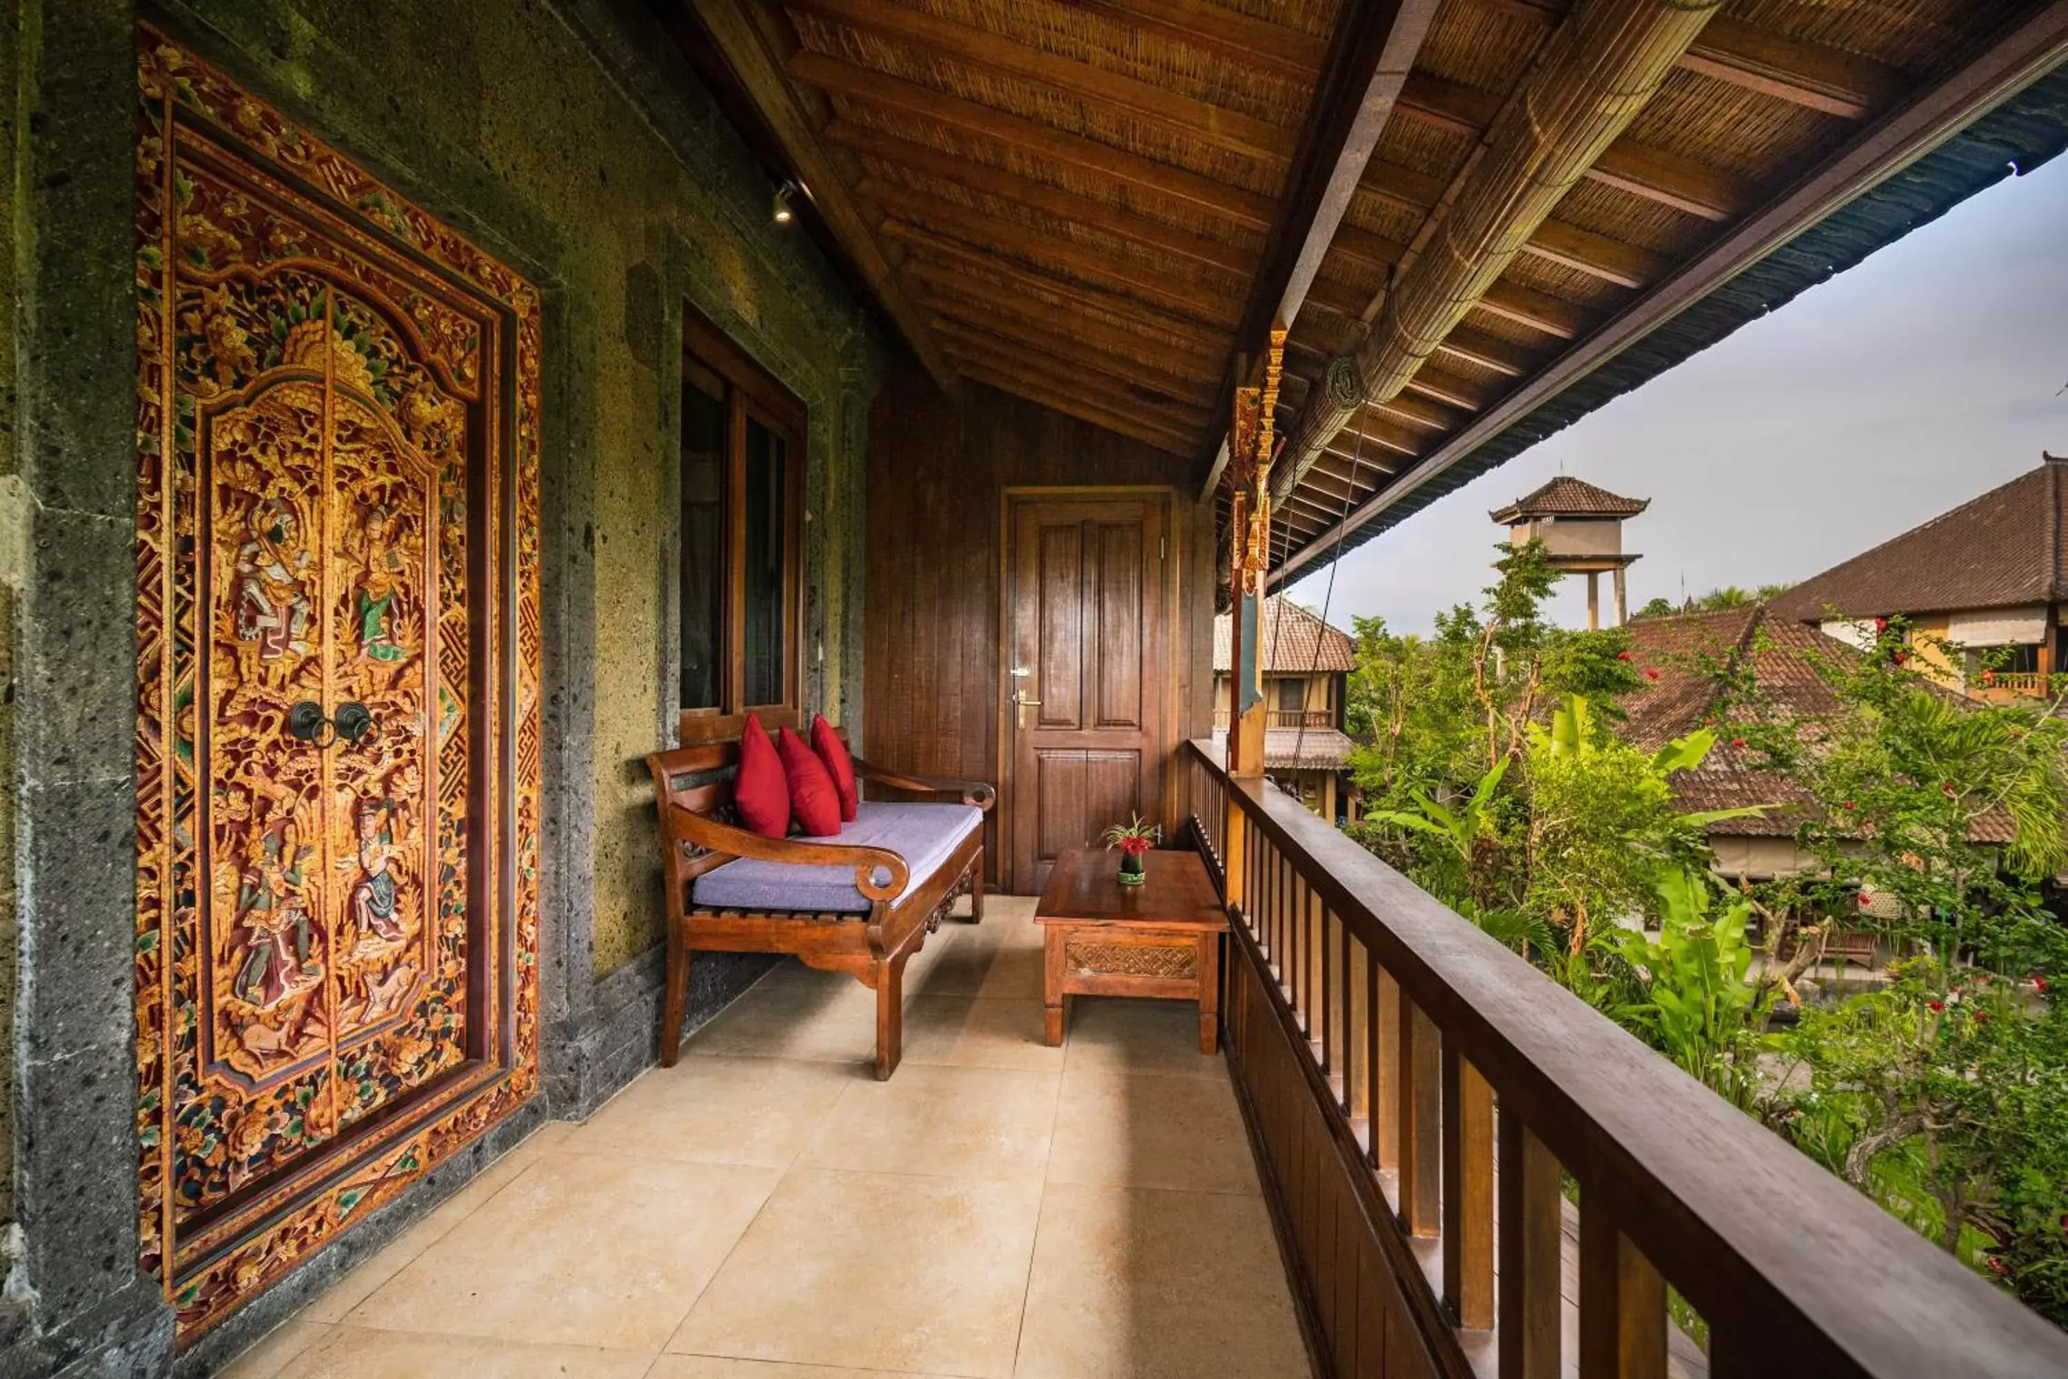
[[[1063,1071],[1048,1183],[1257,1193],[1228,1081]]]

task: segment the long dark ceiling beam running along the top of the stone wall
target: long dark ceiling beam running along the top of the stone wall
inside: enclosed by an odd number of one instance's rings
[[[926,335],[926,320],[912,304],[898,269],[883,256],[883,246],[869,232],[860,209],[840,180],[811,114],[798,101],[796,91],[784,81],[780,58],[769,52],[749,12],[753,0],[691,0],[711,43],[726,66],[738,79],[747,99],[755,103],[769,132],[782,147],[784,157],[796,172],[798,186],[811,205],[825,217],[827,229],[854,263],[856,273],[889,312],[889,318],[904,333],[912,354],[949,393],[955,391],[955,372],[939,345]]]

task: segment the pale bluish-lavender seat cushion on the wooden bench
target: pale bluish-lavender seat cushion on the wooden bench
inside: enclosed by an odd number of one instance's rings
[[[889,848],[912,868],[906,891],[918,889],[955,848],[984,827],[974,804],[889,804],[864,800],[854,823],[838,837],[807,844]],[[883,872],[877,872],[885,879]],[[869,899],[854,889],[852,866],[798,866],[734,858],[697,877],[691,903],[703,910],[800,910],[811,914],[869,914]]]

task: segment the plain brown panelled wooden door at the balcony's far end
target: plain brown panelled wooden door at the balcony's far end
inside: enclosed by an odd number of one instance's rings
[[[1007,885],[1065,848],[1162,819],[1170,753],[1168,494],[1015,494],[1007,504]],[[1022,703],[1028,701],[1028,703]]]

